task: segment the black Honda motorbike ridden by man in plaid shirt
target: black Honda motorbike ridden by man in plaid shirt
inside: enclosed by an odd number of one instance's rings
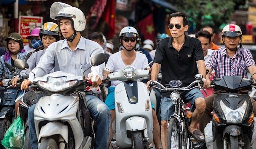
[[[248,90],[253,81],[241,76],[213,79],[219,92],[213,102],[213,148],[249,149],[254,126],[253,105]]]

